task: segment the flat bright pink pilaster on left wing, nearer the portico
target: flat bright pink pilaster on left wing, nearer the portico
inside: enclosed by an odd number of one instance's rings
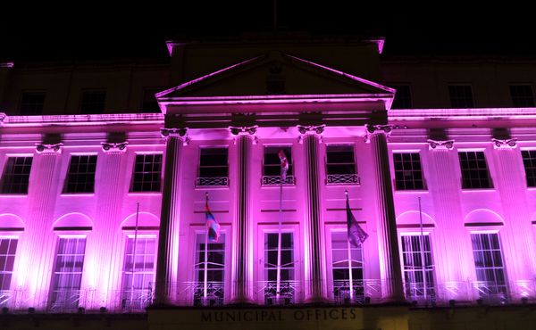
[[[110,293],[112,289],[113,276],[118,276],[113,272],[113,242],[114,235],[121,223],[122,197],[124,194],[121,185],[121,176],[126,160],[125,152],[127,143],[103,143],[103,154],[99,159],[99,169],[101,169],[99,184],[96,192],[96,221],[95,232],[99,235],[91,236],[86,247],[86,265],[95,267],[91,269],[92,274],[88,274],[88,286],[96,289],[96,306],[99,308],[106,306],[106,301],[113,301]],[[90,250],[93,250],[90,251]],[[95,259],[95,260],[92,260]],[[89,269],[88,269],[89,270]]]

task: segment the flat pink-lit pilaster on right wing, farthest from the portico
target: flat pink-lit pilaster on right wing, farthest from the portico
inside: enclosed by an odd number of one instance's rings
[[[499,231],[510,293],[514,300],[535,294],[533,276],[536,273],[532,208],[526,198],[525,176],[518,170],[522,156],[515,139],[492,140],[496,163],[496,182],[504,210],[505,226]]]

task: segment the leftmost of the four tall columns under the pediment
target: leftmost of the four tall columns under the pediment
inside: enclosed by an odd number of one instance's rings
[[[163,128],[167,139],[163,168],[162,210],[156,261],[155,305],[172,303],[177,285],[180,231],[182,146],[188,143],[187,128]]]

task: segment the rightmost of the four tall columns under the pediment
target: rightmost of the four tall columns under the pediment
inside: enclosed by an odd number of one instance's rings
[[[384,301],[404,301],[395,202],[387,151],[387,135],[390,133],[391,127],[389,125],[367,125],[366,129],[367,139],[370,141],[373,152],[382,296]]]

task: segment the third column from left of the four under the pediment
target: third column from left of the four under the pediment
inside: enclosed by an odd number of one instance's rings
[[[318,166],[318,144],[324,129],[322,126],[298,126],[300,142],[304,144],[306,190],[305,214],[305,270],[306,301],[326,300],[325,244],[322,230],[322,208],[320,199],[320,171]]]

